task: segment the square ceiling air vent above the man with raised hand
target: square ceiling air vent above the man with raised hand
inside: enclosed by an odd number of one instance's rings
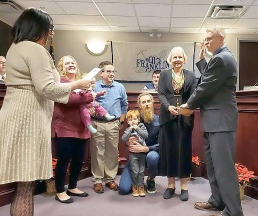
[[[246,9],[243,5],[213,5],[208,13],[208,17],[238,18],[245,13]]]

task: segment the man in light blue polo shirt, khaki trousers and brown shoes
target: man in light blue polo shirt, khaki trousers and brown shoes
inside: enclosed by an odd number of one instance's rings
[[[92,126],[97,132],[91,134],[91,172],[93,174],[93,190],[104,192],[102,180],[111,190],[118,190],[114,178],[118,168],[118,137],[128,108],[124,86],[114,81],[116,71],[110,61],[103,61],[98,65],[101,80],[95,82],[94,91],[106,90],[103,96],[95,100],[102,105],[114,119],[108,121],[96,115],[92,119]]]

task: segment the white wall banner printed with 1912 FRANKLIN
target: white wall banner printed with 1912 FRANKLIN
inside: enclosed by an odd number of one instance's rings
[[[112,41],[113,65],[115,70],[117,70],[115,79],[122,81],[151,80],[153,70],[171,68],[166,58],[174,46],[181,46],[183,48],[188,57],[184,68],[193,71],[194,42]],[[196,48],[199,50],[198,45]],[[197,70],[196,76],[199,77],[198,69],[195,68],[194,70],[195,72]]]

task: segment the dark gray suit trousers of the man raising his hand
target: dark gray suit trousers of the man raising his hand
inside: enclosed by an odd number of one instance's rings
[[[211,187],[208,202],[224,216],[243,216],[234,165],[235,131],[204,132],[207,175]]]

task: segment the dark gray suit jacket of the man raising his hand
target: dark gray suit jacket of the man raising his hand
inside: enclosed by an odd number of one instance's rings
[[[238,111],[235,90],[237,65],[225,46],[207,63],[196,63],[201,81],[187,100],[189,108],[200,107],[204,132],[235,131]]]

